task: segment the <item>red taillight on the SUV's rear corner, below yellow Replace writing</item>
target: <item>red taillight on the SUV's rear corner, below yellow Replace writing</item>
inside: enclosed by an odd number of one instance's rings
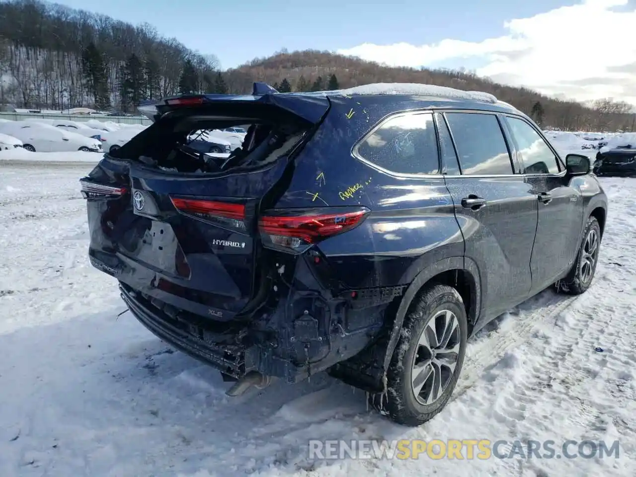
[[[263,245],[302,252],[321,240],[360,225],[369,209],[287,209],[268,211],[259,219]]]

